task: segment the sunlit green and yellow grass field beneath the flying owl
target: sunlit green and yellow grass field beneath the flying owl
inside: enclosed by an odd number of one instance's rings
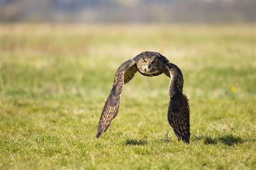
[[[255,25],[2,24],[0,169],[256,169],[255,48]],[[143,51],[183,72],[189,145],[165,75],[137,73],[95,137],[116,69]]]

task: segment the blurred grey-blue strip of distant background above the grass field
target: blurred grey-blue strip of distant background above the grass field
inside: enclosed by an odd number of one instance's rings
[[[255,22],[254,0],[0,0],[0,22]]]

